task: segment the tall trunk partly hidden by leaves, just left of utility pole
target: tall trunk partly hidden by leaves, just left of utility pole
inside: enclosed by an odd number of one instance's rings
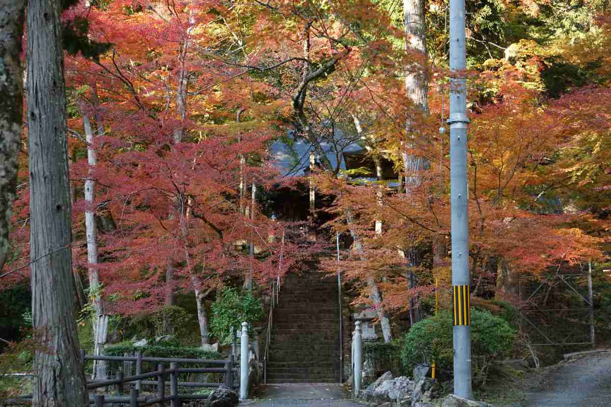
[[[405,16],[404,27],[406,34],[406,48],[421,52],[426,56],[426,32],[424,18],[423,0],[403,0],[403,12]],[[408,98],[415,106],[419,107],[423,113],[428,113],[428,83],[423,67],[417,67],[415,72],[408,73],[405,77],[405,90]],[[406,143],[406,149],[415,149],[422,143],[418,137],[417,129],[414,129],[411,120],[406,121],[406,131],[411,139]],[[413,190],[422,184],[422,171],[428,167],[426,159],[409,153],[403,153],[403,165],[405,169],[405,193],[411,195]],[[415,267],[417,256],[407,256],[411,267]],[[414,288],[417,279],[413,273],[409,273],[408,287]],[[410,300],[410,319],[412,323],[422,320],[423,314],[420,310],[419,298],[414,297]]]

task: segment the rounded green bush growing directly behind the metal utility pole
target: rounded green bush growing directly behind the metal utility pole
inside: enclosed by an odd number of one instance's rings
[[[451,373],[453,319],[449,311],[415,323],[405,335],[401,362],[408,372],[416,364],[436,361],[441,373]],[[471,313],[471,352],[474,384],[486,380],[492,359],[511,354],[516,332],[503,319],[486,311],[473,309]]]

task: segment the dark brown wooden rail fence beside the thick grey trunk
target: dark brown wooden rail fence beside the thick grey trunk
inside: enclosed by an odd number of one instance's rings
[[[124,376],[123,370],[117,372],[117,376],[110,380],[87,381],[87,390],[92,391],[101,387],[116,386],[118,396],[108,395],[90,395],[89,404],[95,407],[103,407],[105,403],[125,403],[130,407],[143,407],[158,405],[166,407],[166,402],[170,402],[170,407],[180,407],[183,400],[196,400],[207,398],[208,395],[203,394],[178,394],[178,387],[237,387],[233,386],[234,373],[238,369],[233,367],[233,355],[230,355],[227,360],[213,359],[180,359],[180,358],[149,358],[142,356],[142,352],[138,352],[136,356],[103,356],[103,355],[83,355],[84,360],[99,360],[99,361],[122,361],[136,362],[136,374]],[[155,362],[157,369],[153,372],[142,373],[142,362]],[[169,363],[170,368],[166,369],[164,363]],[[220,367],[179,367],[179,364],[207,364]],[[207,382],[191,382],[178,381],[180,373],[222,373],[223,383],[207,383]],[[169,376],[169,382],[166,381],[166,376]],[[155,379],[155,380],[152,380]],[[134,387],[130,388],[129,396],[123,396],[125,392],[125,384],[134,383]],[[142,396],[143,385],[155,386],[156,394]],[[166,395],[166,386],[170,387],[169,394]],[[0,400],[0,405],[27,405],[32,403],[32,396],[21,396],[9,400]]]

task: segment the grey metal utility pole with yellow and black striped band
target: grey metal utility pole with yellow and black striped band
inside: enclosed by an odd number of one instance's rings
[[[472,399],[469,222],[467,214],[467,88],[465,0],[450,0],[450,189],[454,301],[454,394]]]

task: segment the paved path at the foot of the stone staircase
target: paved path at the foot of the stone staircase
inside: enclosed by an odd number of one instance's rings
[[[343,386],[338,383],[268,384],[258,398],[240,402],[240,406],[363,407],[344,397]]]

